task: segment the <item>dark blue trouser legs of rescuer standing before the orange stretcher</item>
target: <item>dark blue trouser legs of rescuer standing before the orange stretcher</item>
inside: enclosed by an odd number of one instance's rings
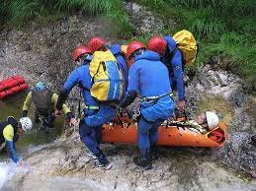
[[[158,141],[158,127],[163,121],[159,119],[149,122],[143,116],[138,120],[138,148],[142,157],[145,157],[149,153],[151,146],[156,145]]]

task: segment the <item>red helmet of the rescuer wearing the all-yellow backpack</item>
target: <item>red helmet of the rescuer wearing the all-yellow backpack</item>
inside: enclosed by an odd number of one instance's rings
[[[157,52],[160,55],[165,53],[167,42],[160,36],[153,36],[148,41],[148,49]]]

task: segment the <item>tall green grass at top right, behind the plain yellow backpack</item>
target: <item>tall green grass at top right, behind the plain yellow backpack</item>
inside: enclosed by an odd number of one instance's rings
[[[161,34],[182,29],[193,32],[200,52],[196,67],[211,57],[221,60],[247,80],[256,82],[256,1],[253,0],[136,0],[165,21]],[[169,20],[177,25],[169,26]],[[194,68],[195,69],[195,68]]]

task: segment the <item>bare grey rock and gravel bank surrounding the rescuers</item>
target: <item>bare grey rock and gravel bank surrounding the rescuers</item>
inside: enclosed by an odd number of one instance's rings
[[[144,29],[153,32],[149,27]],[[21,74],[29,85],[43,80],[57,92],[74,67],[74,47],[99,33],[105,33],[101,20],[83,15],[45,26],[4,30],[0,32],[0,79]],[[71,130],[26,156],[28,170],[16,173],[2,190],[255,189],[251,176],[256,175],[256,148],[250,143],[250,136],[256,133],[255,97],[244,92],[240,78],[216,68],[206,65],[188,81],[187,111],[193,116],[215,110],[229,127],[224,148],[160,148],[153,169],[143,171],[132,162],[135,146],[105,144],[104,152],[113,168],[104,171],[94,167],[78,133],[71,134]]]

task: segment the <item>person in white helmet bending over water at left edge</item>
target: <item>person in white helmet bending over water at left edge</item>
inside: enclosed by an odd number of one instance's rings
[[[20,134],[32,129],[32,126],[32,120],[29,117],[22,117],[17,121],[14,117],[9,116],[6,121],[0,122],[0,148],[1,150],[6,148],[15,163],[20,162],[16,154],[15,143],[19,140]]]

